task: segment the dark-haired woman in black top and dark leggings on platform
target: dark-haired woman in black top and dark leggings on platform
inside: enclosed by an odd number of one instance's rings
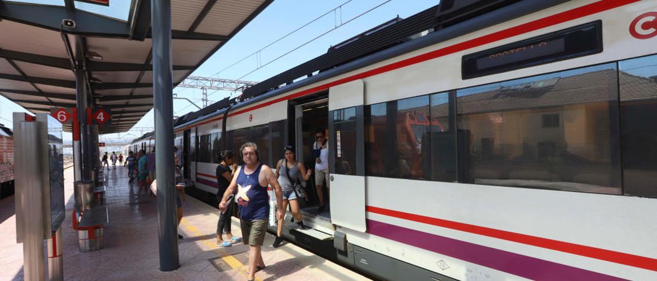
[[[233,180],[233,175],[237,170],[237,164],[233,158],[232,150],[223,150],[217,155],[219,160],[219,165],[217,165],[217,201],[221,202],[223,194],[226,192],[226,189],[231,184]],[[232,169],[231,169],[232,167]],[[229,205],[224,213],[219,213],[219,222],[217,223],[217,245],[221,247],[230,247],[231,243],[224,241],[221,238],[221,234],[226,232],[226,240],[232,240],[232,242],[239,242],[242,238],[237,238],[231,233],[231,215],[233,215],[235,209],[235,201],[231,200]]]

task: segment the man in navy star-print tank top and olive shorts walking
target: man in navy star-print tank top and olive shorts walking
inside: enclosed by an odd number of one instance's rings
[[[249,279],[254,280],[256,271],[264,269],[261,246],[267,233],[269,218],[269,194],[267,185],[271,185],[276,193],[276,218],[283,219],[281,205],[283,204],[283,192],[273,171],[269,166],[260,163],[258,158],[258,146],[253,142],[246,142],[240,148],[244,165],[237,168],[237,177],[233,177],[231,185],[223,194],[219,209],[225,211],[227,198],[230,194],[237,194],[237,205],[240,210],[240,228],[242,228],[242,239],[249,246],[248,269]]]

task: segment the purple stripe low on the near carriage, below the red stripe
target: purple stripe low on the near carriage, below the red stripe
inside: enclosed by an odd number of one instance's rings
[[[405,227],[367,219],[367,232],[403,244],[426,249],[469,263],[508,272],[532,280],[623,280],[501,249],[455,240]]]

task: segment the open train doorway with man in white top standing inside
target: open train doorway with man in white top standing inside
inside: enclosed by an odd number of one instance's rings
[[[330,221],[330,197],[328,192],[328,98],[327,95],[310,100],[295,100],[294,142],[296,158],[313,170],[306,181],[306,202],[300,202],[304,223],[317,230],[332,230]],[[319,136],[323,138],[318,138]],[[320,141],[317,144],[317,141]],[[322,145],[324,144],[324,145]],[[315,147],[317,146],[317,148]],[[315,151],[318,149],[319,151]],[[320,156],[319,163],[317,157]],[[326,177],[324,177],[326,173]],[[319,182],[318,179],[323,179]],[[304,204],[305,203],[305,204]]]

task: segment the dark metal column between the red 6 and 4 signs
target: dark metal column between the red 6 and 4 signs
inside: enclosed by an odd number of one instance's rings
[[[79,146],[81,150],[81,179],[91,179],[91,169],[89,169],[89,133],[87,130],[87,107],[89,100],[87,99],[87,81],[83,69],[78,68],[76,71],[76,102],[78,109],[78,125],[79,125]],[[74,158],[75,161],[75,158]]]

